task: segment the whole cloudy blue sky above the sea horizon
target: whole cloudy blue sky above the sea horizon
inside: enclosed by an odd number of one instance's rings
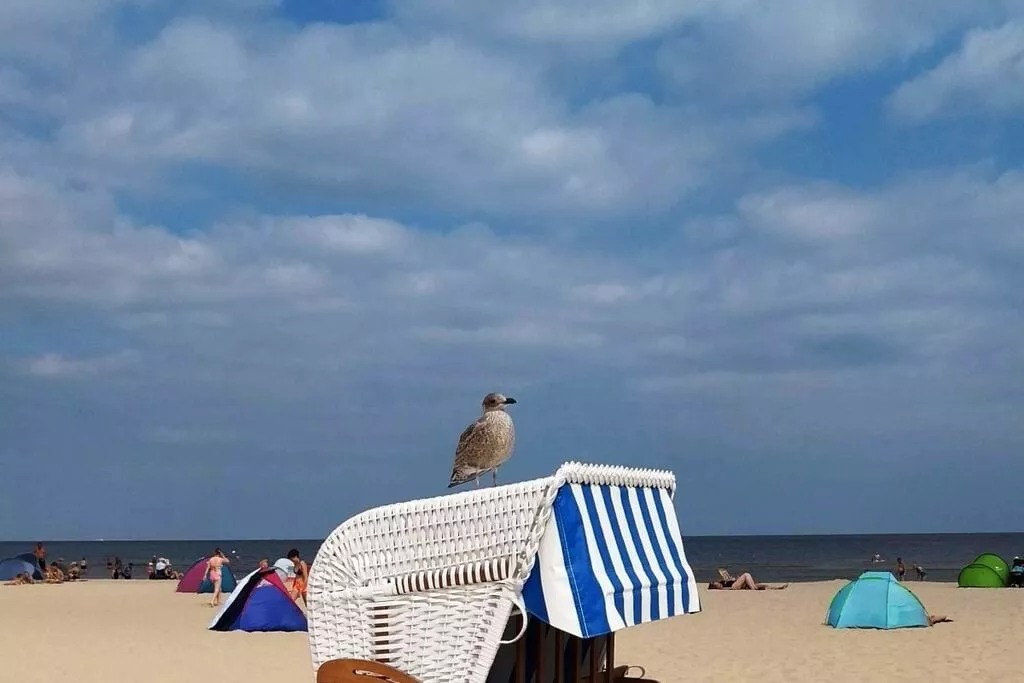
[[[15,0],[0,538],[323,537],[488,391],[687,533],[1020,530],[1022,166],[1017,0]]]

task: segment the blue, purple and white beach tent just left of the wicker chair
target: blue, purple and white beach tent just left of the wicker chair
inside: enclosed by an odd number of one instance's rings
[[[211,631],[306,631],[306,615],[296,604],[278,572],[256,569],[238,588],[210,622]]]

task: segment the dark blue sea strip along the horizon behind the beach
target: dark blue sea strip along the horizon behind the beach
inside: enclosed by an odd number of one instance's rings
[[[241,577],[261,558],[272,563],[292,548],[311,561],[321,541],[47,541],[48,560],[72,562],[86,558],[90,579],[110,578],[106,562],[115,557],[134,564],[132,579],[146,578],[145,564],[166,557],[184,570],[214,548],[221,548]],[[36,540],[0,542],[0,558],[32,552]],[[694,536],[684,539],[687,559],[697,581],[707,582],[726,567],[733,574],[750,571],[759,582],[808,582],[854,579],[867,569],[892,569],[902,558],[907,579],[915,579],[913,563],[925,567],[926,581],[954,582],[961,567],[981,553],[996,553],[1010,561],[1024,555],[1024,533],[913,533],[862,536]],[[878,555],[882,561],[873,561]]]

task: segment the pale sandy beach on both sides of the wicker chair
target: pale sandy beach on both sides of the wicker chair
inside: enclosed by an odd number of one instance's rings
[[[663,681],[1008,681],[1024,658],[1015,634],[1024,591],[912,583],[931,629],[836,631],[821,622],[844,582],[785,591],[705,591],[705,611],[624,631],[617,664]],[[310,681],[303,633],[213,633],[199,595],[172,583],[89,581],[0,586],[5,680],[18,683]]]

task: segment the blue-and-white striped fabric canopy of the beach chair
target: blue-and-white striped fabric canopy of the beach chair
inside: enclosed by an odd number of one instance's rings
[[[562,485],[522,594],[581,638],[700,611],[669,489]]]

